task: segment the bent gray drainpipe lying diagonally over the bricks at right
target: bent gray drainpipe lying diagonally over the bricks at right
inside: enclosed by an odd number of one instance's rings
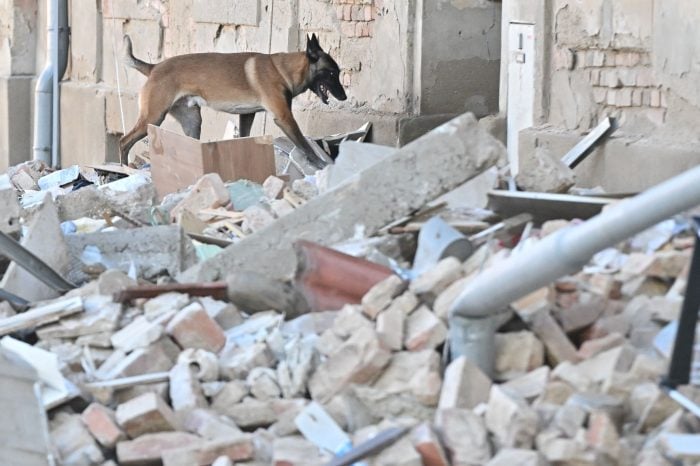
[[[700,204],[700,167],[547,236],[470,281],[450,309],[451,357],[493,373],[495,315],[513,301],[580,270],[598,251]]]

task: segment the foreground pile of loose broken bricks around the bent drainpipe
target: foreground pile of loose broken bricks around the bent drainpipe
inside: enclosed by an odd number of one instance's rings
[[[36,332],[81,388],[50,413],[52,441],[62,464],[320,465],[331,452],[294,422],[313,400],[355,444],[410,427],[371,465],[696,464],[674,440],[700,422],[659,388],[668,358],[654,347],[678,317],[692,238],[638,242],[513,303],[493,377],[442,353],[451,304],[509,255],[498,245],[291,321],[177,293],[122,307],[97,290],[129,279],[105,272],[73,292],[85,313]]]

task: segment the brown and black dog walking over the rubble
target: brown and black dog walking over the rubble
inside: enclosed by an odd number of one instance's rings
[[[160,125],[170,113],[186,135],[199,139],[200,107],[240,115],[240,135],[248,136],[255,113],[268,111],[277,126],[314,166],[317,157],[292,115],[292,99],[307,89],[328,103],[328,92],[345,100],[338,64],[321,49],[316,34],[307,36],[306,51],[293,53],[194,53],[158,64],[134,57],[131,39],[124,37],[126,64],[148,77],[139,93],[136,125],[119,140],[121,163],[131,147],[146,136],[149,124]]]

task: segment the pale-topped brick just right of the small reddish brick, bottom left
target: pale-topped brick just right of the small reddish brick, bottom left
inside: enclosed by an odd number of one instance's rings
[[[117,423],[130,438],[178,429],[175,413],[154,393],[146,393],[117,406]]]

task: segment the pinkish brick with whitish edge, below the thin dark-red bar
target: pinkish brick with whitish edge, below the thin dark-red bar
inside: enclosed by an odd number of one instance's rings
[[[182,348],[201,348],[218,353],[226,344],[226,335],[207,311],[193,303],[177,313],[167,328]]]

